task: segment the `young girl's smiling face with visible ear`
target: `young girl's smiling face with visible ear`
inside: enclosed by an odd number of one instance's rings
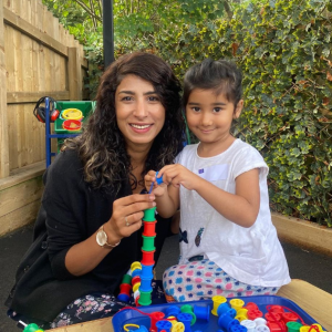
[[[203,145],[221,148],[232,137],[231,123],[240,116],[242,106],[242,100],[236,106],[215,90],[194,89],[186,105],[188,127]]]

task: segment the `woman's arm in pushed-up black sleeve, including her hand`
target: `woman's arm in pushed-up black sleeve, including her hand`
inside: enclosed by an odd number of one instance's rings
[[[75,151],[61,153],[44,178],[48,252],[54,278],[60,280],[90,272],[110,253],[111,249],[96,242],[101,225],[104,224],[108,243],[117,243],[141,227],[142,211],[155,205],[153,195],[114,200],[113,195],[91,189],[83,180]]]

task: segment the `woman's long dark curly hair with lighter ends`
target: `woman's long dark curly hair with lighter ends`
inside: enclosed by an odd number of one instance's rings
[[[135,52],[113,62],[101,77],[96,108],[91,114],[83,134],[66,139],[64,148],[76,148],[84,166],[84,179],[93,188],[117,191],[123,179],[132,188],[138,180],[132,173],[131,157],[123,134],[117,127],[115,92],[126,75],[136,75],[153,84],[165,107],[165,124],[154,139],[142,177],[149,170],[172,164],[183,148],[184,118],[180,108],[180,84],[170,66],[157,55]]]

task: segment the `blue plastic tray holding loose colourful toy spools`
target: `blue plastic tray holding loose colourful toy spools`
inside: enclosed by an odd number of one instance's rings
[[[304,310],[302,310],[298,304],[292,302],[291,300],[276,297],[276,295],[260,295],[260,297],[239,297],[237,299],[241,299],[247,304],[248,302],[255,302],[259,310],[266,314],[267,305],[283,305],[289,308],[290,310],[298,313],[305,324],[311,325],[313,323],[318,323],[313,318],[311,318]],[[231,299],[228,299],[228,301]],[[151,313],[154,311],[162,311],[164,312],[167,307],[169,305],[177,305],[181,307],[184,304],[197,304],[197,305],[210,305],[212,309],[212,300],[204,300],[204,301],[193,301],[193,302],[183,302],[183,303],[164,303],[164,304],[155,304],[155,305],[148,305],[148,307],[138,307],[137,309]],[[246,305],[245,304],[245,305]],[[147,315],[143,315],[136,310],[125,309],[120,312],[117,312],[112,320],[114,332],[124,332],[123,326],[125,324],[137,324],[137,325],[145,325],[147,329],[151,326],[151,319]],[[220,329],[218,326],[218,318],[214,314],[210,314],[209,322],[197,320],[196,323],[191,326],[191,331],[200,330],[200,331],[209,331],[214,332]],[[324,329],[323,329],[324,330]]]

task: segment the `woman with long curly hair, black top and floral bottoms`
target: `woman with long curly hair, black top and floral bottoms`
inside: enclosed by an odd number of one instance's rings
[[[143,210],[155,206],[141,194],[143,177],[183,146],[179,91],[153,54],[124,55],[105,71],[86,129],[44,175],[34,241],[6,303],[11,317],[55,328],[118,310],[114,294],[142,259]],[[169,230],[157,220],[155,261]]]

